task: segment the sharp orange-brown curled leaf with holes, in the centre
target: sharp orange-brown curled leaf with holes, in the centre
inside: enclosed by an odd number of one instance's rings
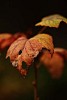
[[[26,37],[18,38],[7,51],[7,56],[10,57],[12,65],[15,66],[22,75],[26,75],[29,66],[42,51],[47,49],[53,54],[53,40],[50,35],[38,34],[30,39]],[[24,69],[22,63],[27,64],[27,69]]]

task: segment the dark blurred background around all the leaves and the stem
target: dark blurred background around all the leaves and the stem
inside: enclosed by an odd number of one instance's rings
[[[5,0],[0,1],[0,33],[25,32],[32,29],[41,18],[61,14],[67,17],[67,2],[65,0]],[[55,47],[67,49],[67,25],[61,23],[58,29],[47,29],[53,36]],[[0,100],[34,100],[32,81],[34,69],[31,66],[26,79],[12,67],[9,59],[5,59],[7,49],[0,53]],[[38,92],[40,100],[67,100],[67,62],[63,75],[59,80],[50,77],[43,67],[39,69]]]

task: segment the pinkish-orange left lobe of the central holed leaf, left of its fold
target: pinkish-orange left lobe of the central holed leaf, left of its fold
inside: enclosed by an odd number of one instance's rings
[[[25,36],[15,40],[8,49],[6,57],[10,57],[11,61],[15,60],[15,58],[19,55],[19,51],[23,50],[26,41],[27,38]]]

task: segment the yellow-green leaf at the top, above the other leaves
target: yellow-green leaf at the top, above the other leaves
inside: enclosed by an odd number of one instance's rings
[[[54,14],[50,16],[44,17],[41,22],[35,24],[35,26],[49,26],[49,27],[59,27],[60,22],[65,22],[67,24],[67,18],[59,15]]]

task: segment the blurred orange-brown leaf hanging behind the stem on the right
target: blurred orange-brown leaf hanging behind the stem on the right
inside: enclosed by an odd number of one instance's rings
[[[67,60],[67,50],[55,48],[54,54],[51,55],[48,51],[40,58],[40,61],[46,66],[52,78],[60,78],[63,73],[64,61]]]

